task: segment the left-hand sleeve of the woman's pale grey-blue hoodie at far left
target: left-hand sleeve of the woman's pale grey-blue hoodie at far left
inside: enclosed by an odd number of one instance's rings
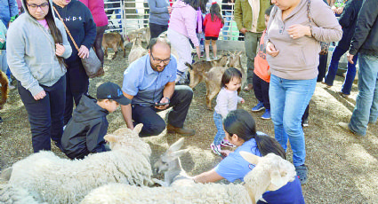
[[[30,91],[32,96],[36,96],[44,90],[30,73],[30,69],[25,61],[25,44],[26,39],[19,26],[12,26],[8,30],[6,48],[6,59],[8,66],[12,71],[12,75],[20,81],[21,85]]]

